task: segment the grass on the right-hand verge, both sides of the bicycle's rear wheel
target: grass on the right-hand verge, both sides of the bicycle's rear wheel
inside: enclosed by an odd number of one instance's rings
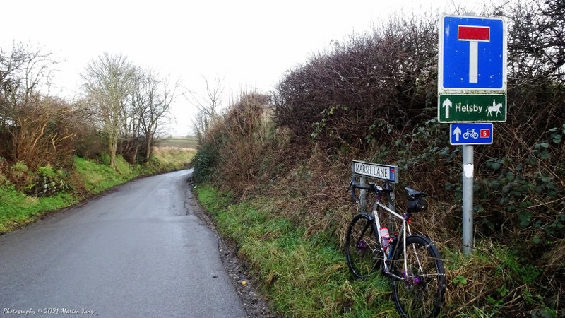
[[[387,278],[350,275],[338,243],[323,233],[308,235],[285,218],[273,200],[234,199],[209,184],[196,187],[198,200],[218,231],[238,247],[270,299],[285,317],[398,317]],[[491,240],[477,241],[473,257],[441,248],[446,295],[440,317],[557,318],[560,295],[546,295],[542,269]],[[559,274],[554,277],[559,279]]]

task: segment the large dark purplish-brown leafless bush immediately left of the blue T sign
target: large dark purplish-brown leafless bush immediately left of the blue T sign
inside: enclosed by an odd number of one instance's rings
[[[397,18],[316,54],[278,84],[275,122],[303,143],[367,150],[373,140],[391,141],[434,114],[436,28]]]

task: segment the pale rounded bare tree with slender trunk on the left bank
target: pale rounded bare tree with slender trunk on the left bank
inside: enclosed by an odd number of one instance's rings
[[[128,120],[126,107],[138,79],[136,66],[124,55],[105,53],[90,61],[81,77],[88,100],[100,112],[110,165],[115,167],[121,129]]]

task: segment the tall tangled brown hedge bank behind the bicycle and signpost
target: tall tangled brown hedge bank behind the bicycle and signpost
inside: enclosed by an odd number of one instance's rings
[[[270,197],[278,215],[341,246],[355,213],[351,160],[394,163],[400,189],[430,194],[417,228],[445,257],[447,317],[562,316],[565,5],[516,1],[484,15],[495,13],[510,17],[509,120],[476,149],[474,257],[459,252],[460,149],[434,119],[435,20],[391,20],[314,55],[285,75],[272,104],[242,95],[204,134],[196,181]]]

